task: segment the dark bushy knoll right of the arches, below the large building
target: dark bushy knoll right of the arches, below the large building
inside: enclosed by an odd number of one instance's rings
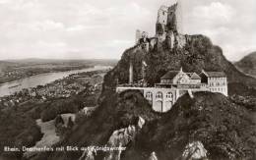
[[[209,159],[254,159],[255,128],[248,111],[222,94],[181,97],[160,120],[145,125],[122,159],[179,159],[189,142],[201,141]],[[253,149],[254,148],[254,149]],[[254,155],[255,156],[255,155]]]

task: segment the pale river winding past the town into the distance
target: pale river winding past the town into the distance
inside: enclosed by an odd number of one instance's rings
[[[95,66],[93,68],[87,68],[82,70],[72,70],[67,72],[57,72],[57,73],[46,73],[32,76],[30,78],[15,80],[11,82],[6,82],[0,84],[0,97],[5,95],[11,95],[17,91],[21,91],[24,88],[35,87],[37,85],[44,85],[46,83],[52,82],[54,80],[63,79],[72,74],[91,72],[97,70],[110,69],[109,66]]]

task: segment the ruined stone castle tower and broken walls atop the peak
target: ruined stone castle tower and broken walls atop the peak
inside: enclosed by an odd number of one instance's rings
[[[189,36],[182,33],[182,18],[178,3],[167,7],[161,6],[156,23],[156,35],[149,36],[147,31],[136,30],[135,43],[146,51],[154,48],[158,42],[168,39],[170,49],[182,48],[189,40]]]

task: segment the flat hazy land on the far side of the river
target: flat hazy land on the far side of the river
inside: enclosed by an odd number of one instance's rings
[[[45,73],[82,70],[96,65],[115,66],[116,60],[23,59],[0,61],[0,84]]]

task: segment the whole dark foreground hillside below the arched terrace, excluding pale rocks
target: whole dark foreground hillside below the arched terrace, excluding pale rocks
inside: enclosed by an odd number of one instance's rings
[[[220,93],[198,92],[191,99],[183,95],[170,111],[156,113],[140,91],[108,92],[91,117],[85,118],[56,146],[104,146],[115,131],[146,124],[121,154],[122,160],[149,159],[156,152],[160,160],[182,157],[189,142],[200,141],[210,159],[253,159],[255,125],[249,111]],[[116,145],[118,146],[118,145]],[[48,152],[34,160],[78,160],[82,152]],[[96,160],[106,157],[97,151]],[[84,159],[83,159],[84,160]]]

